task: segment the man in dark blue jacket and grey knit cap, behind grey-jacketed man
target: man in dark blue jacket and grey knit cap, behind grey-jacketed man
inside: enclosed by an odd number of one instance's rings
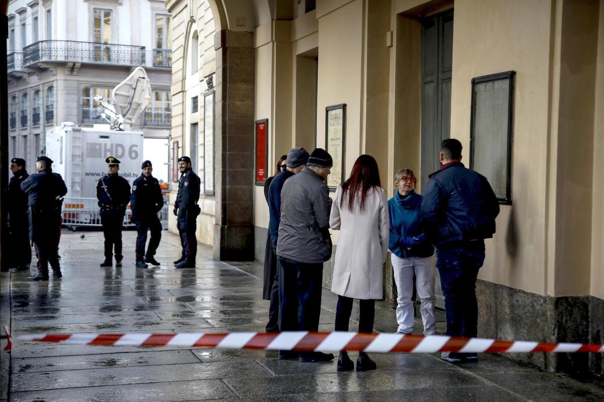
[[[304,148],[294,148],[289,151],[288,159],[286,159],[287,167],[283,172],[276,175],[271,185],[268,187],[268,208],[269,208],[269,237],[271,239],[272,253],[274,254],[273,261],[275,262],[275,274],[272,278],[271,286],[271,304],[268,310],[268,324],[266,324],[266,332],[279,331],[279,271],[277,269],[277,237],[279,232],[279,222],[281,221],[281,189],[288,178],[299,173],[306,166],[309,153]]]

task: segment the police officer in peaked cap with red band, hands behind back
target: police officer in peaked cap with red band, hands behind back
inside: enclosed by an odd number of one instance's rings
[[[130,201],[130,184],[118,175],[120,161],[108,157],[108,175],[101,177],[97,184],[98,206],[100,207],[101,225],[105,237],[105,260],[101,266],[112,266],[115,245],[115,266],[121,266],[121,229],[126,215],[126,206]]]

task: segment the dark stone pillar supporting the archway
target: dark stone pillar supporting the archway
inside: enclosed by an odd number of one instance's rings
[[[216,49],[215,260],[254,260],[254,34],[219,31]]]

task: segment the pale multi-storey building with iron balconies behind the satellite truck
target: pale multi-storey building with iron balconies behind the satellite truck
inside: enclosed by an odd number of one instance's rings
[[[94,95],[109,98],[137,66],[147,71],[152,101],[132,130],[167,146],[172,41],[164,1],[16,0],[8,27],[10,158],[33,165],[45,152],[45,132],[62,122],[103,124]]]

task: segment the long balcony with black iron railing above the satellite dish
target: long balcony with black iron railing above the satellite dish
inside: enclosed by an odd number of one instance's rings
[[[115,43],[77,42],[75,40],[40,40],[25,46],[23,49],[24,66],[42,61],[144,66],[145,47]]]

